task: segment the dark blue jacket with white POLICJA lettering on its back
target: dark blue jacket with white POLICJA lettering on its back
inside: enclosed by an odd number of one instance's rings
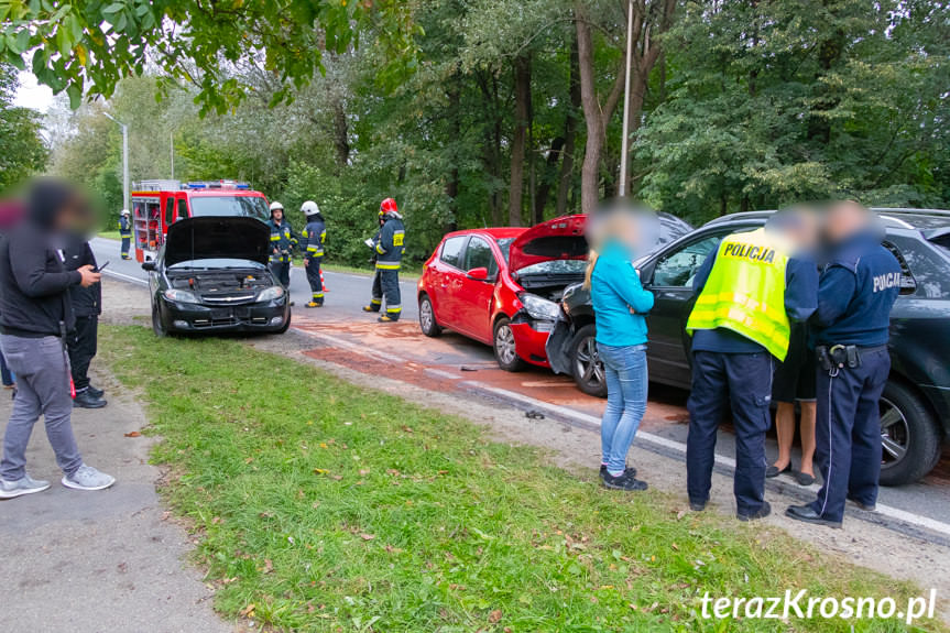
[[[887,343],[891,308],[900,293],[900,264],[881,240],[862,233],[830,253],[818,286],[818,345]]]

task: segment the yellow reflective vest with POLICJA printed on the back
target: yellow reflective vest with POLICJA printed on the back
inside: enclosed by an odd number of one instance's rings
[[[778,360],[788,352],[785,268],[789,251],[764,228],[728,236],[696,299],[686,331],[725,328],[753,340]]]

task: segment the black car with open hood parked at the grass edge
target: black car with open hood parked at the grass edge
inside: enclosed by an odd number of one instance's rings
[[[284,332],[290,296],[267,268],[271,232],[255,218],[197,217],[168,227],[149,271],[152,329]]]

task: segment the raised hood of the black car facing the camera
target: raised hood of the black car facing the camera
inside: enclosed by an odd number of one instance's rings
[[[266,264],[270,243],[271,230],[255,218],[185,218],[168,227],[165,236],[165,265],[219,258]]]

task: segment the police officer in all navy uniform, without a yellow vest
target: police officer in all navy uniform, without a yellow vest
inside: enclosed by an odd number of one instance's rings
[[[877,401],[891,371],[887,338],[900,264],[881,244],[871,212],[856,203],[832,206],[825,233],[828,263],[813,319],[819,361],[815,457],[825,481],[815,501],[790,505],[785,514],[841,527],[845,499],[862,510],[877,503]]]

